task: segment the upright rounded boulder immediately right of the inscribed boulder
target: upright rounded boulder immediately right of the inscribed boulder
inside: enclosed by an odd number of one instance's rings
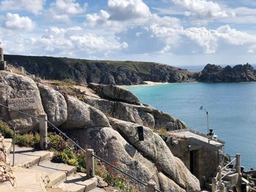
[[[48,120],[55,126],[60,126],[67,120],[67,103],[64,96],[59,91],[41,83],[38,83],[37,86]]]

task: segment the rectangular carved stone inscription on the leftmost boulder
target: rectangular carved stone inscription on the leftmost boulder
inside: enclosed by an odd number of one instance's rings
[[[36,110],[37,99],[36,98],[19,98],[8,99],[8,107],[12,110]]]

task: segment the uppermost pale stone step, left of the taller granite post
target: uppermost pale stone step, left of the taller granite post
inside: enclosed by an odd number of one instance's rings
[[[31,147],[15,145],[15,166],[29,168],[52,157],[53,153],[47,150],[34,150]],[[10,160],[12,164],[12,152],[10,153]]]

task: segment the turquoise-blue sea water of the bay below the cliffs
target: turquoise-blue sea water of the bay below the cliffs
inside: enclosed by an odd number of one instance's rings
[[[256,168],[256,82],[182,82],[127,86],[142,103],[183,120],[189,128],[206,133],[210,128],[224,140],[225,153],[241,153],[246,169]]]

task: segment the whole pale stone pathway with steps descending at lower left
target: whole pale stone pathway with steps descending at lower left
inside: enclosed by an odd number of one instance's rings
[[[6,144],[10,148],[10,141]],[[86,174],[75,173],[74,166],[52,163],[52,156],[50,151],[15,146],[16,185],[0,184],[0,192],[105,192],[97,188],[96,177],[86,180]]]

